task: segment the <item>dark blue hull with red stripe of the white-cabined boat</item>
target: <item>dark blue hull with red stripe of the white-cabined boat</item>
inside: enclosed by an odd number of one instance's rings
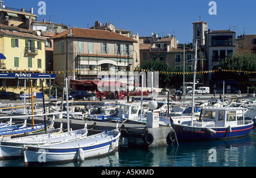
[[[253,122],[247,125],[229,128],[200,128],[188,125],[173,124],[177,141],[203,141],[210,139],[238,138],[249,135],[253,130]],[[231,131],[231,132],[230,132]]]

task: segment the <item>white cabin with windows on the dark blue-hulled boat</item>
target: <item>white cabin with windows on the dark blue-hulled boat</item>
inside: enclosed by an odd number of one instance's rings
[[[243,115],[241,116],[241,110]],[[227,127],[245,124],[246,109],[243,108],[203,108],[201,109],[199,121],[193,126],[200,127]]]

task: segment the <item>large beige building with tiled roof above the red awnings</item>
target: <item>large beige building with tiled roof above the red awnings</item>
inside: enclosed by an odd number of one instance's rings
[[[63,85],[68,77],[73,90],[88,90],[88,86],[70,80],[115,78],[118,72],[133,71],[139,65],[139,52],[134,48],[138,41],[115,32],[74,27],[52,39],[54,71],[59,71],[56,83]]]

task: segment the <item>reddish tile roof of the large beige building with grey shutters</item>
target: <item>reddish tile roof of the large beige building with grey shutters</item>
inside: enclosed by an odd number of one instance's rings
[[[102,39],[102,40],[118,40],[118,41],[131,41],[134,43],[138,43],[137,40],[133,40],[124,35],[120,35],[115,32],[104,31],[100,29],[87,29],[87,28],[71,28],[73,35],[68,35],[69,30],[59,33],[56,36],[53,36],[52,39],[57,39],[61,37],[85,37],[89,39]]]

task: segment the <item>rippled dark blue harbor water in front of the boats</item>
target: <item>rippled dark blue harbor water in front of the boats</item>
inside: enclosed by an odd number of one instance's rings
[[[2,160],[1,167],[24,167],[23,158]],[[119,149],[84,162],[52,164],[48,167],[254,167],[256,132],[242,138],[179,142],[149,149],[127,147],[121,139]]]

